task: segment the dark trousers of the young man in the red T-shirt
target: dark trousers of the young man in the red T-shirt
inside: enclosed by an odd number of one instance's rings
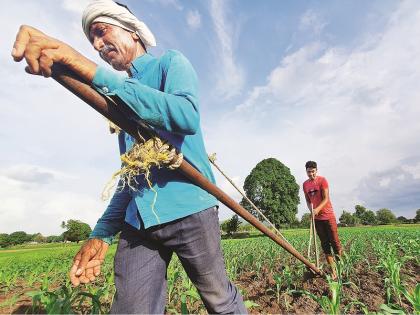
[[[338,255],[341,251],[341,243],[338,238],[337,222],[335,221],[335,218],[315,220],[315,228],[325,255],[332,254],[331,247],[334,250],[334,254]]]

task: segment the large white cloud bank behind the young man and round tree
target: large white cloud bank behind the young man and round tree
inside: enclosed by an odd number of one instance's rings
[[[381,33],[360,34],[368,40],[358,47],[314,42],[285,56],[265,85],[213,125],[208,146],[230,152],[224,163],[242,178],[272,156],[302,183],[305,161],[316,160],[337,214],[374,204],[358,193],[362,179],[397,167],[420,147],[419,21],[419,3],[401,2]],[[407,202],[414,209],[416,200]]]

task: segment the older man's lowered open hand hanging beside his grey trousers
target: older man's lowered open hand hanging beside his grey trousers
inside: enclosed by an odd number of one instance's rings
[[[74,286],[89,283],[99,276],[108,247],[109,245],[100,239],[90,239],[83,244],[74,256],[70,269],[70,280]]]

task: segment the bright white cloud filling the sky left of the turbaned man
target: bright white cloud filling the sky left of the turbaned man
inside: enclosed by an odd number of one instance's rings
[[[24,62],[10,56],[19,25],[29,24],[98,60],[81,30],[79,4],[10,2],[0,13],[1,232],[57,234],[68,219],[93,227],[106,207],[101,190],[119,167],[106,121],[54,80],[26,74]]]

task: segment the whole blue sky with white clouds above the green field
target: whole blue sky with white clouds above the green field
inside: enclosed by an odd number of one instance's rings
[[[81,30],[86,3],[12,1],[0,13],[0,232],[93,226],[106,207],[101,190],[119,165],[106,122],[10,57],[29,24],[100,62]],[[125,3],[154,32],[152,54],[177,49],[195,67],[207,150],[238,185],[268,157],[301,184],[316,160],[337,216],[355,204],[409,218],[420,208],[418,1]]]

